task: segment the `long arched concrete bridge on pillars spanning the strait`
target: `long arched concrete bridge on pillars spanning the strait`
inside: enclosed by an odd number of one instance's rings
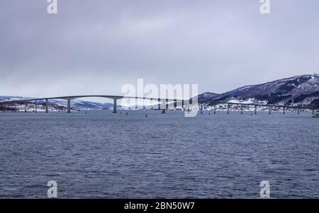
[[[117,113],[117,100],[121,100],[123,98],[130,98],[130,99],[142,99],[142,100],[152,100],[158,102],[158,110],[162,110],[162,113],[165,113],[165,110],[169,109],[169,103],[173,103],[174,108],[177,107],[177,103],[181,105],[182,108],[184,108],[184,105],[189,105],[192,103],[192,98],[189,100],[182,100],[182,99],[172,99],[172,98],[147,98],[147,97],[138,97],[138,96],[104,96],[104,95],[92,95],[92,96],[60,96],[60,97],[50,97],[50,98],[31,98],[31,99],[23,99],[23,100],[8,100],[8,101],[1,101],[0,105],[8,105],[8,104],[15,104],[15,103],[24,103],[25,104],[25,112],[27,111],[27,105],[30,102],[34,102],[35,104],[35,113],[37,112],[38,108],[38,100],[45,100],[45,113],[48,113],[48,105],[49,100],[52,99],[62,99],[67,100],[67,113],[71,113],[71,100],[77,99],[77,98],[109,98],[113,99],[113,113]],[[300,113],[300,110],[312,110],[313,115],[315,114],[315,110],[319,110],[319,108],[310,107],[310,106],[303,106],[303,105],[273,105],[273,104],[259,104],[259,103],[231,103],[231,102],[223,102],[223,101],[198,101],[198,105],[200,106],[200,111],[203,113],[203,105],[213,105],[213,113],[216,114],[216,105],[224,104],[227,105],[227,113],[229,114],[230,105],[239,105],[241,114],[243,113],[243,107],[244,106],[254,106],[254,114],[257,114],[257,107],[264,107],[269,108],[269,114],[272,112],[272,108],[283,108],[284,114],[286,109],[296,109],[298,111],[298,115]],[[138,109],[138,105],[136,102],[135,108]],[[143,109],[145,106],[143,105]]]

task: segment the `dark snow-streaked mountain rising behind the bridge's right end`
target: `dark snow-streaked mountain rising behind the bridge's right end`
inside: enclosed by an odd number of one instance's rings
[[[226,93],[202,93],[198,100],[247,101],[268,104],[318,105],[319,75],[293,76],[250,86],[242,86]]]

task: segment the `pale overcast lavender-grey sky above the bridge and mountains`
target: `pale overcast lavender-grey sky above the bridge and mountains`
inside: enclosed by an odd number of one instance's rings
[[[319,73],[319,1],[0,0],[0,96],[121,95],[124,84],[223,93]]]

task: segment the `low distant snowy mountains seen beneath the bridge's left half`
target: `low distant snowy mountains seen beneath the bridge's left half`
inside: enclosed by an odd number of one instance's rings
[[[0,101],[8,100],[22,100],[22,99],[32,99],[30,97],[21,97],[21,96],[0,96]],[[45,100],[39,100],[38,104],[41,105],[45,103]],[[52,99],[49,100],[49,105],[56,105],[65,107],[67,105],[67,100],[62,99]],[[91,102],[86,100],[74,99],[71,101],[71,107],[77,110],[99,110],[99,109],[112,109],[113,103],[99,103]],[[121,109],[121,105],[117,105],[118,109]]]

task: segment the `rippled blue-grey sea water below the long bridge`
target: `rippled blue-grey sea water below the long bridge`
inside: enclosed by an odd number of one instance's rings
[[[0,197],[319,197],[311,113],[0,113]]]

